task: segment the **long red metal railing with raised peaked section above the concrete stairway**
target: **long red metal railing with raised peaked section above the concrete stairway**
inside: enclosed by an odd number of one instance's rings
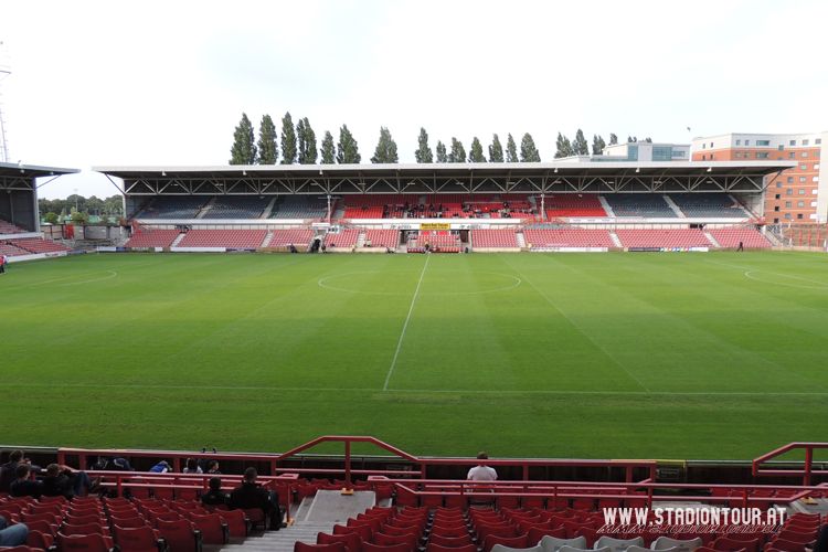
[[[342,443],[343,445],[343,467],[342,468],[295,468],[284,466],[288,460],[299,453],[314,448],[323,443]],[[394,457],[416,466],[417,469],[393,470],[393,469],[353,469],[351,445],[354,443],[365,443],[374,445]],[[124,456],[127,458],[164,458],[172,460],[172,470],[180,473],[183,467],[183,460],[187,458],[205,458],[231,461],[261,461],[270,466],[272,474],[325,474],[342,475],[346,486],[351,487],[352,476],[390,476],[390,477],[418,477],[425,479],[429,467],[436,466],[458,466],[471,467],[478,464],[476,458],[436,458],[416,456],[402,450],[393,445],[389,445],[375,437],[370,436],[347,436],[347,435],[326,435],[299,445],[280,454],[226,454],[226,453],[187,453],[181,450],[135,450],[135,449],[86,449],[86,448],[60,448],[57,450],[59,464],[68,464],[67,456],[77,456],[81,466],[87,466],[89,457],[98,456]],[[655,480],[657,463],[655,460],[584,460],[584,459],[529,459],[529,458],[510,458],[510,459],[489,459],[486,461],[489,466],[519,467],[521,468],[521,479],[530,480],[530,468],[543,467],[567,467],[567,468],[623,468],[624,480],[634,482],[635,470],[646,470],[645,480]]]

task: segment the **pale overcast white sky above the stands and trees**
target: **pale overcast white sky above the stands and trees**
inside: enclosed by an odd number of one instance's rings
[[[531,132],[543,160],[583,128],[688,142],[828,129],[828,1],[4,0],[10,160],[88,169],[225,164],[242,112],[344,123],[368,161],[380,126],[414,161]],[[691,127],[691,131],[687,130]],[[47,198],[109,195],[84,173]]]

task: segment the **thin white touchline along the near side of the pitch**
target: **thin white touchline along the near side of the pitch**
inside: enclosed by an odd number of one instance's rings
[[[156,390],[197,390],[197,391],[276,391],[276,392],[357,392],[357,393],[389,393],[401,394],[435,394],[447,393],[465,395],[629,395],[629,396],[828,396],[825,391],[602,391],[602,390],[485,390],[485,389],[390,389],[376,388],[278,388],[274,385],[170,385],[164,383],[6,383],[12,388],[73,388],[73,389],[156,389]]]

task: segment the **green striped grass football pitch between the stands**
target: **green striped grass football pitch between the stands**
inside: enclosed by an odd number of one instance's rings
[[[827,263],[710,253],[17,264],[0,276],[3,442],[284,450],[357,434],[424,455],[752,458],[828,433]]]

